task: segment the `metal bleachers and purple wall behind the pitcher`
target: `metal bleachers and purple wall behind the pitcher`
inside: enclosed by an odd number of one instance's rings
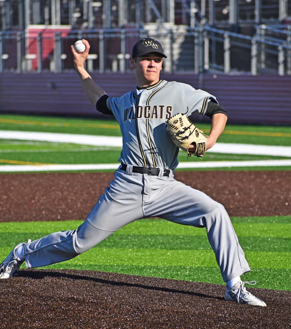
[[[86,69],[118,96],[134,87],[132,46],[149,36],[163,44],[167,79],[218,95],[235,108],[230,122],[291,123],[291,1],[2,0],[0,9],[0,112],[93,115],[80,108],[70,45],[89,40]]]

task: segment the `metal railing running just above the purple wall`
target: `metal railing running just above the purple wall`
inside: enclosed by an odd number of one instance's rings
[[[268,72],[274,74],[291,74],[291,34],[281,29],[280,33],[287,36],[284,39],[262,34],[261,27],[251,37],[206,25],[185,27],[182,33],[177,27],[160,30],[68,29],[50,34],[46,29],[34,34],[28,31],[0,32],[0,72],[73,70],[70,45],[77,39],[86,38],[91,44],[86,61],[88,71],[125,73],[130,70],[128,58],[134,43],[150,36],[161,40],[169,55],[165,62],[167,72],[217,71],[257,75],[269,69]]]

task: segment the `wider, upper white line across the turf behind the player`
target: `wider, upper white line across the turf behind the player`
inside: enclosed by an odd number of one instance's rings
[[[59,143],[74,143],[94,146],[122,147],[122,137],[57,134],[0,130],[0,139],[42,140]],[[291,157],[291,146],[216,143],[207,151],[224,154],[254,154]]]

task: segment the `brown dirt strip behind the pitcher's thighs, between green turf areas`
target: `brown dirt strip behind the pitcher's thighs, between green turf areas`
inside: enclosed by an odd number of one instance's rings
[[[85,219],[113,173],[0,174],[0,222]],[[230,216],[291,215],[291,171],[178,171]]]

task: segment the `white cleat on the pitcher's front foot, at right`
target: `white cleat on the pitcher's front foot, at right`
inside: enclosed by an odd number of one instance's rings
[[[255,285],[256,281],[239,281],[233,287],[225,290],[225,300],[231,300],[242,304],[267,306],[260,298],[255,297],[249,291],[244,288],[244,284]]]

